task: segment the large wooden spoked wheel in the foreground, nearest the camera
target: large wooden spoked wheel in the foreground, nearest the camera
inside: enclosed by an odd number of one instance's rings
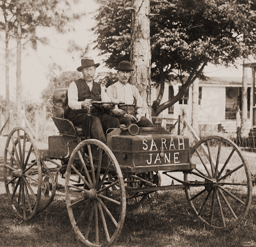
[[[84,244],[109,246],[118,238],[125,218],[125,187],[108,146],[97,139],[77,145],[68,161],[65,196],[72,227]]]

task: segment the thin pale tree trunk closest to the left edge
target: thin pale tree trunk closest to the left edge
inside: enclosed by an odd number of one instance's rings
[[[10,116],[10,80],[9,80],[9,35],[8,35],[8,22],[5,22],[5,111],[6,111],[6,119]],[[10,130],[10,119],[7,124],[8,131]]]

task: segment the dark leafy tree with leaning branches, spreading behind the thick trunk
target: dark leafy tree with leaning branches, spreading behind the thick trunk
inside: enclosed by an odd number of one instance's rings
[[[97,45],[109,54],[106,64],[115,67],[129,57],[131,1],[98,0],[95,19]],[[153,104],[153,113],[177,102],[202,74],[207,63],[235,65],[237,58],[255,56],[255,4],[246,0],[151,0],[150,45],[152,80],[164,86],[168,75],[179,77],[178,95],[159,106],[163,90]],[[188,76],[185,81],[184,76]]]

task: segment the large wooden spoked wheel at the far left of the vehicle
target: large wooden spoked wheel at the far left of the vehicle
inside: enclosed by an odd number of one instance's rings
[[[22,220],[31,219],[40,203],[42,169],[35,141],[22,127],[13,129],[6,141],[4,184],[15,214]]]

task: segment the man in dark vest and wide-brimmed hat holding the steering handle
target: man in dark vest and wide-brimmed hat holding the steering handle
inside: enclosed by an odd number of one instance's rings
[[[118,128],[120,122],[117,118],[106,114],[102,106],[92,105],[92,101],[111,102],[104,88],[99,83],[93,81],[96,68],[99,65],[100,63],[94,63],[91,57],[81,59],[81,66],[77,68],[77,71],[82,72],[83,77],[72,81],[68,88],[68,106],[70,108],[68,119],[74,125],[80,125],[86,129],[88,120],[87,111],[89,107],[92,107],[90,120],[92,138],[106,143],[104,131],[109,128]],[[103,104],[103,107],[111,108],[113,105]]]

